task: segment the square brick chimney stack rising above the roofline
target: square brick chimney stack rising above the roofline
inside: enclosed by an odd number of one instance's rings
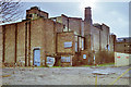
[[[92,11],[91,11],[91,7],[85,8],[85,22],[87,22],[88,24],[92,24]]]

